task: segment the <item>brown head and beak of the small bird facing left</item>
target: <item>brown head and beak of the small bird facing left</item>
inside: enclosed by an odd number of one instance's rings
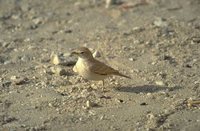
[[[72,51],[71,55],[77,55],[83,59],[93,58],[91,51],[86,47],[80,47]]]

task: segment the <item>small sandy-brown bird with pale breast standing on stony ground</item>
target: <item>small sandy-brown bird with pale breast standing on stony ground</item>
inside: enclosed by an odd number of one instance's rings
[[[73,67],[73,71],[87,80],[102,81],[112,75],[117,75],[131,79],[131,77],[120,73],[118,70],[95,59],[92,52],[87,47],[79,47],[71,52],[71,55],[77,55],[78,60]]]

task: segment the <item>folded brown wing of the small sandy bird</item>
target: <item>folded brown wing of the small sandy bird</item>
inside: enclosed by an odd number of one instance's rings
[[[100,75],[112,75],[112,74],[119,73],[117,70],[113,69],[112,67],[109,67],[106,64],[97,60],[93,62],[89,68],[92,72],[100,74]]]

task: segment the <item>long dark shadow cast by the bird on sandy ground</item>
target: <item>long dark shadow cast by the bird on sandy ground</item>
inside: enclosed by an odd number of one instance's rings
[[[131,92],[131,93],[154,93],[159,91],[174,91],[180,89],[180,86],[167,87],[167,86],[158,86],[158,85],[142,85],[142,86],[124,86],[116,87],[115,90],[119,92]]]

